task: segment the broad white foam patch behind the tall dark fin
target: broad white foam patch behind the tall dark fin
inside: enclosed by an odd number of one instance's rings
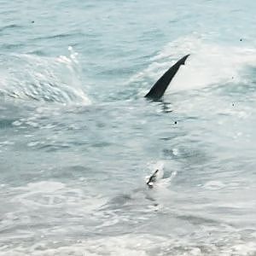
[[[195,36],[179,38],[152,58],[145,70],[131,78],[131,82],[150,79],[154,83],[183,55],[190,54],[172,80],[172,92],[207,87],[212,84],[240,82],[245,79],[242,70],[256,63],[256,49],[209,44]]]

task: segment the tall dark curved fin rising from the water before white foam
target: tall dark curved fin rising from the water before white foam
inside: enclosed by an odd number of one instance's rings
[[[164,73],[160,79],[153,85],[151,90],[149,90],[148,94],[145,95],[146,98],[159,101],[160,98],[164,95],[168,85],[171,83],[173,77],[177,73],[177,70],[181,65],[185,65],[185,61],[189,55],[183,56],[179,61],[177,61],[172,67],[170,67],[166,73]]]

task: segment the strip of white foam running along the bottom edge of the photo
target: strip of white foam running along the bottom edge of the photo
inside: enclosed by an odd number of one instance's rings
[[[63,245],[58,241],[38,242],[32,247],[10,246],[0,247],[0,256],[149,256],[149,255],[183,255],[201,256],[206,255],[254,255],[256,243],[253,241],[242,241],[233,239],[225,240],[223,246],[217,246],[219,237],[215,242],[192,242],[186,238],[172,238],[154,236],[149,234],[131,234],[124,236],[105,236],[97,239],[79,239],[73,244]],[[205,251],[205,252],[204,252]]]

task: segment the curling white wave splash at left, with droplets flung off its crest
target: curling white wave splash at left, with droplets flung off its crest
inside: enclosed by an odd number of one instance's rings
[[[79,61],[69,56],[0,55],[0,96],[27,101],[89,104],[79,80]]]

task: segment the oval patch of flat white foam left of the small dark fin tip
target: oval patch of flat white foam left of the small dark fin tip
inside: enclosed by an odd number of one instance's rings
[[[85,194],[82,189],[53,181],[27,183],[26,186],[17,187],[14,191],[16,195],[13,196],[11,202],[25,206],[28,211],[38,208],[63,207],[70,214],[88,214],[107,202],[102,195],[98,193],[94,195],[93,191],[87,191]]]

